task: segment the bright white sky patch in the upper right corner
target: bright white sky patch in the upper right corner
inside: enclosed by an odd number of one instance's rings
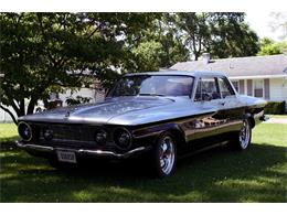
[[[284,12],[284,14],[286,14],[286,12]],[[275,18],[272,17],[272,12],[246,12],[246,21],[249,23],[251,29],[253,29],[259,37],[267,36],[275,41],[281,41],[280,35],[283,32],[279,29],[274,31],[270,26],[270,24],[275,21]]]

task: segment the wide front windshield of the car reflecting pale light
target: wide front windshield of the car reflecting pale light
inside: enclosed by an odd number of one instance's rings
[[[192,84],[193,77],[182,75],[126,76],[108,96],[190,96]]]

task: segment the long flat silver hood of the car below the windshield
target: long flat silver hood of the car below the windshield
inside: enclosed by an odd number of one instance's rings
[[[174,103],[170,98],[160,97],[117,97],[108,98],[103,103],[78,105],[56,108],[34,115],[26,115],[19,120],[42,121],[42,122],[96,122],[108,123],[118,116],[128,112],[145,110],[150,108],[168,106]]]

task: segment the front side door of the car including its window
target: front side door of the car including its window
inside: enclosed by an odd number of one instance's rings
[[[196,117],[193,121],[192,135],[189,137],[192,149],[205,148],[223,140],[222,132],[227,125],[227,116],[221,111],[222,101],[216,77],[201,77],[195,89],[194,106],[209,114]]]

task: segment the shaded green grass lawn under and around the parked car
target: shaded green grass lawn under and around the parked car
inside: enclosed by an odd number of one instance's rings
[[[62,172],[14,148],[0,125],[0,202],[286,202],[287,125],[253,130],[245,152],[217,148],[180,160],[169,179],[150,179],[129,162]]]

